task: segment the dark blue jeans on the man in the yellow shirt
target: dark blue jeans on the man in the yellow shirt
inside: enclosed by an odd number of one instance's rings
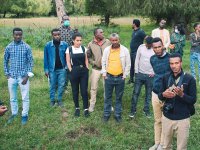
[[[121,116],[122,112],[122,96],[124,93],[124,79],[120,77],[112,77],[107,75],[105,79],[105,98],[104,98],[104,116],[111,115],[112,93],[115,88],[115,116]]]

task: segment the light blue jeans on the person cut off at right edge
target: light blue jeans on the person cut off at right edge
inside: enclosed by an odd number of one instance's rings
[[[199,73],[199,80],[200,80],[200,53],[191,52],[190,53],[190,70],[192,76],[196,79],[196,72],[195,72],[195,63],[198,64],[198,73]]]

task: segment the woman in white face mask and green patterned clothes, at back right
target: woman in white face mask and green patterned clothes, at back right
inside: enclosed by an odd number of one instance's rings
[[[174,32],[170,36],[170,53],[179,53],[183,56],[183,47],[185,46],[185,30],[181,24],[174,26]]]

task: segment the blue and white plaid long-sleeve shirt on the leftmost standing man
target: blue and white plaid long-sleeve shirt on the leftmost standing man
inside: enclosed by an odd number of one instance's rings
[[[32,72],[33,56],[28,44],[11,42],[4,53],[4,72],[6,76],[18,78]]]

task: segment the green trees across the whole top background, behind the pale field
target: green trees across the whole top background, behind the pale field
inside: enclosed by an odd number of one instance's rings
[[[105,25],[110,17],[140,15],[173,25],[200,20],[199,0],[63,0],[69,15],[100,15]],[[55,0],[0,0],[1,17],[56,16]]]

